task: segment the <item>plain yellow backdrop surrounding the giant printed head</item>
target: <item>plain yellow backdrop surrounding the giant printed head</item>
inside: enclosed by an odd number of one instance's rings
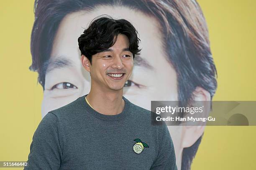
[[[26,161],[43,98],[37,73],[28,70],[34,0],[0,2],[0,161]],[[218,71],[213,100],[256,100],[256,1],[198,2]],[[256,126],[207,126],[192,170],[256,169],[255,131]]]

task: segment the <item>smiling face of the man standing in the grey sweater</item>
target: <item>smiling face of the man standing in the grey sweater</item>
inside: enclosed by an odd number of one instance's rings
[[[92,65],[89,64],[93,88],[102,91],[123,89],[133,70],[133,54],[129,51],[129,44],[128,37],[119,34],[112,47],[92,55]]]

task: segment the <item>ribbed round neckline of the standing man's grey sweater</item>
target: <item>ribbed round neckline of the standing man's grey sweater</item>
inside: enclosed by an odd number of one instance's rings
[[[88,94],[87,94],[88,95]],[[85,96],[87,95],[83,95],[82,97],[80,97],[80,100],[82,100],[82,105],[83,107],[90,112],[90,114],[92,114],[93,116],[101,119],[101,120],[106,120],[106,121],[118,121],[118,120],[122,120],[124,117],[126,117],[131,111],[130,111],[130,106],[131,106],[131,102],[129,100],[127,100],[124,96],[122,97],[123,100],[125,101],[125,106],[122,112],[120,112],[117,115],[103,115],[100,112],[97,112],[96,110],[94,110],[92,107],[90,107],[90,105],[88,105],[88,103],[85,100]]]

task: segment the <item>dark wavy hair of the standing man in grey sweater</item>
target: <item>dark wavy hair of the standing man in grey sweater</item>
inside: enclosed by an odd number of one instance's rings
[[[92,55],[112,47],[118,34],[128,37],[129,50],[133,54],[133,58],[139,54],[141,49],[138,49],[138,44],[141,40],[133,25],[125,19],[115,20],[109,15],[100,15],[91,21],[89,27],[78,38],[81,55],[85,55],[92,64]]]

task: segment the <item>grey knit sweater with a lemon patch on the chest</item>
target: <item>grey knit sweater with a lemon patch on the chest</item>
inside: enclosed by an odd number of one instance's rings
[[[128,101],[118,115],[103,115],[85,96],[48,112],[38,125],[24,170],[177,170],[165,123]]]

